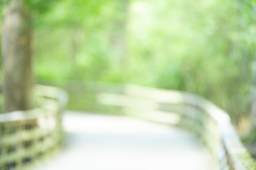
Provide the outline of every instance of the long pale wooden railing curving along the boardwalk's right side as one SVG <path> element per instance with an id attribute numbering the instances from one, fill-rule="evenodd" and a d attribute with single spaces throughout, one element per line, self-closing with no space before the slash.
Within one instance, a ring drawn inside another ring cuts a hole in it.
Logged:
<path id="1" fill-rule="evenodd" d="M 81 102 L 80 105 L 75 103 L 80 109 L 121 113 L 189 129 L 208 146 L 216 169 L 256 169 L 228 114 L 200 96 L 137 85 L 96 82 L 73 83 L 70 87 L 67 90 L 76 102 Z"/>

